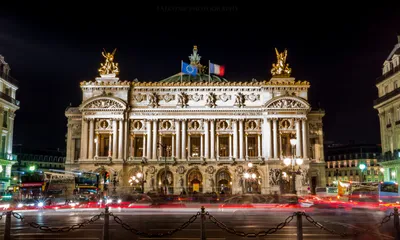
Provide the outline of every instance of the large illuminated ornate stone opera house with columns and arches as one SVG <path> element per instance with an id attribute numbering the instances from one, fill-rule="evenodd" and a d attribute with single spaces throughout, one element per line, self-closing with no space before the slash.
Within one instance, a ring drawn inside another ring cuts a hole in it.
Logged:
<path id="1" fill-rule="evenodd" d="M 65 112 L 66 169 L 101 173 L 103 189 L 106 173 L 116 175 L 118 191 L 143 183 L 170 194 L 270 193 L 288 189 L 283 158 L 295 154 L 303 159 L 297 190 L 326 185 L 325 113 L 311 109 L 309 82 L 290 77 L 286 51 L 270 80 L 247 82 L 206 74 L 197 47 L 189 57 L 196 75 L 121 81 L 114 53 L 103 53 L 101 77 L 81 82 L 82 103 Z"/>

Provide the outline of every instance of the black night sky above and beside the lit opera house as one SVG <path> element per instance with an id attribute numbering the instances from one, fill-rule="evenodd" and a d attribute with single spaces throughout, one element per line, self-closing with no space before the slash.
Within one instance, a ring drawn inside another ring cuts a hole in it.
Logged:
<path id="1" fill-rule="evenodd" d="M 393 4 L 94 3 L 2 6 L 0 54 L 20 82 L 14 144 L 65 148 L 64 111 L 80 104 L 79 82 L 98 76 L 103 48 L 117 48 L 121 79 L 158 81 L 180 71 L 193 45 L 203 65 L 225 65 L 230 81 L 269 80 L 274 48 L 287 48 L 292 76 L 311 83 L 312 106 L 326 111 L 325 140 L 380 142 L 373 100 L 375 80 L 400 34 L 400 9 Z"/>

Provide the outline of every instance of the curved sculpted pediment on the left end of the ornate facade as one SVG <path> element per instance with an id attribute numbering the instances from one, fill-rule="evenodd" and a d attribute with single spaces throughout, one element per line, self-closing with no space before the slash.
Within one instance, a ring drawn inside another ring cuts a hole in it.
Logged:
<path id="1" fill-rule="evenodd" d="M 88 99 L 80 106 L 81 111 L 85 110 L 103 110 L 103 111 L 124 111 L 126 103 L 115 97 L 99 97 Z"/>

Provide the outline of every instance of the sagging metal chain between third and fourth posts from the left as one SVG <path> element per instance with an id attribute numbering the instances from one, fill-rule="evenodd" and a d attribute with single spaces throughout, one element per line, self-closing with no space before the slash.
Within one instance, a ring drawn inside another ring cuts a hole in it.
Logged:
<path id="1" fill-rule="evenodd" d="M 297 215 L 297 213 L 293 213 L 292 215 L 287 217 L 284 222 L 279 223 L 276 227 L 270 228 L 266 231 L 260 231 L 257 233 L 245 233 L 243 231 L 237 231 L 234 228 L 230 228 L 230 227 L 226 226 L 224 223 L 218 221 L 213 215 L 209 214 L 208 212 L 206 212 L 206 215 L 208 216 L 208 219 L 210 219 L 210 221 L 212 223 L 214 223 L 220 229 L 222 229 L 228 233 L 235 234 L 236 236 L 240 236 L 240 237 L 264 237 L 264 236 L 275 233 L 276 231 L 284 228 L 286 225 L 288 225 L 293 220 L 293 218 Z"/>

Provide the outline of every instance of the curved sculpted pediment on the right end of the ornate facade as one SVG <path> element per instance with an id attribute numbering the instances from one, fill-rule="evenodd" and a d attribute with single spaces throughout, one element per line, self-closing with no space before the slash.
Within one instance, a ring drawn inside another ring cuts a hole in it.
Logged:
<path id="1" fill-rule="evenodd" d="M 279 109 L 279 110 L 308 110 L 310 104 L 302 98 L 281 96 L 273 98 L 265 103 L 267 109 Z"/>

